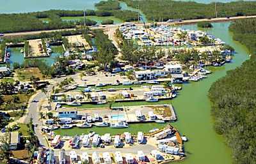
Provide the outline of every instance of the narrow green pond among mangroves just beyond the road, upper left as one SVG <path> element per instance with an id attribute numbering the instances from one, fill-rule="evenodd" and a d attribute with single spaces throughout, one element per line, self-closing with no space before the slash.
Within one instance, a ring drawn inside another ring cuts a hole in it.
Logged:
<path id="1" fill-rule="evenodd" d="M 80 20 L 84 19 L 84 17 L 61 17 L 61 20 Z M 97 17 L 97 16 L 86 16 L 86 19 L 94 20 L 97 22 L 97 24 L 101 24 L 102 20 L 111 19 L 114 20 L 114 24 L 122 24 L 124 21 L 121 19 L 118 19 L 116 17 Z"/>

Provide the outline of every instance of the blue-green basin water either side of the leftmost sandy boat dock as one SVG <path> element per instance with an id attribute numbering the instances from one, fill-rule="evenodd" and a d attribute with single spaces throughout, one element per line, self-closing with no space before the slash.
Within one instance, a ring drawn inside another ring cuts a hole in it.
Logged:
<path id="1" fill-rule="evenodd" d="M 24 59 L 24 54 L 20 53 L 20 50 L 24 47 L 9 47 L 7 50 L 10 52 L 10 63 L 19 63 L 22 64 L 26 59 Z M 63 54 L 62 46 L 51 46 L 52 54 L 51 57 L 36 57 L 36 59 L 42 59 L 51 66 L 52 62 L 54 62 L 55 57 Z"/>

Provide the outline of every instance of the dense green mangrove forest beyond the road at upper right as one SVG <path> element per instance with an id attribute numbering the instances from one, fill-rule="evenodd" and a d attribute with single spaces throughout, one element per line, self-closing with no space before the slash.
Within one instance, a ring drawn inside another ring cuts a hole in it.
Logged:
<path id="1" fill-rule="evenodd" d="M 216 17 L 214 15 L 215 3 L 196 3 L 194 1 L 172 0 L 121 0 L 128 6 L 138 8 L 146 15 L 148 20 L 166 21 L 168 19 L 202 19 Z M 256 2 L 236 1 L 230 3 L 216 3 L 218 17 L 255 15 Z"/>

